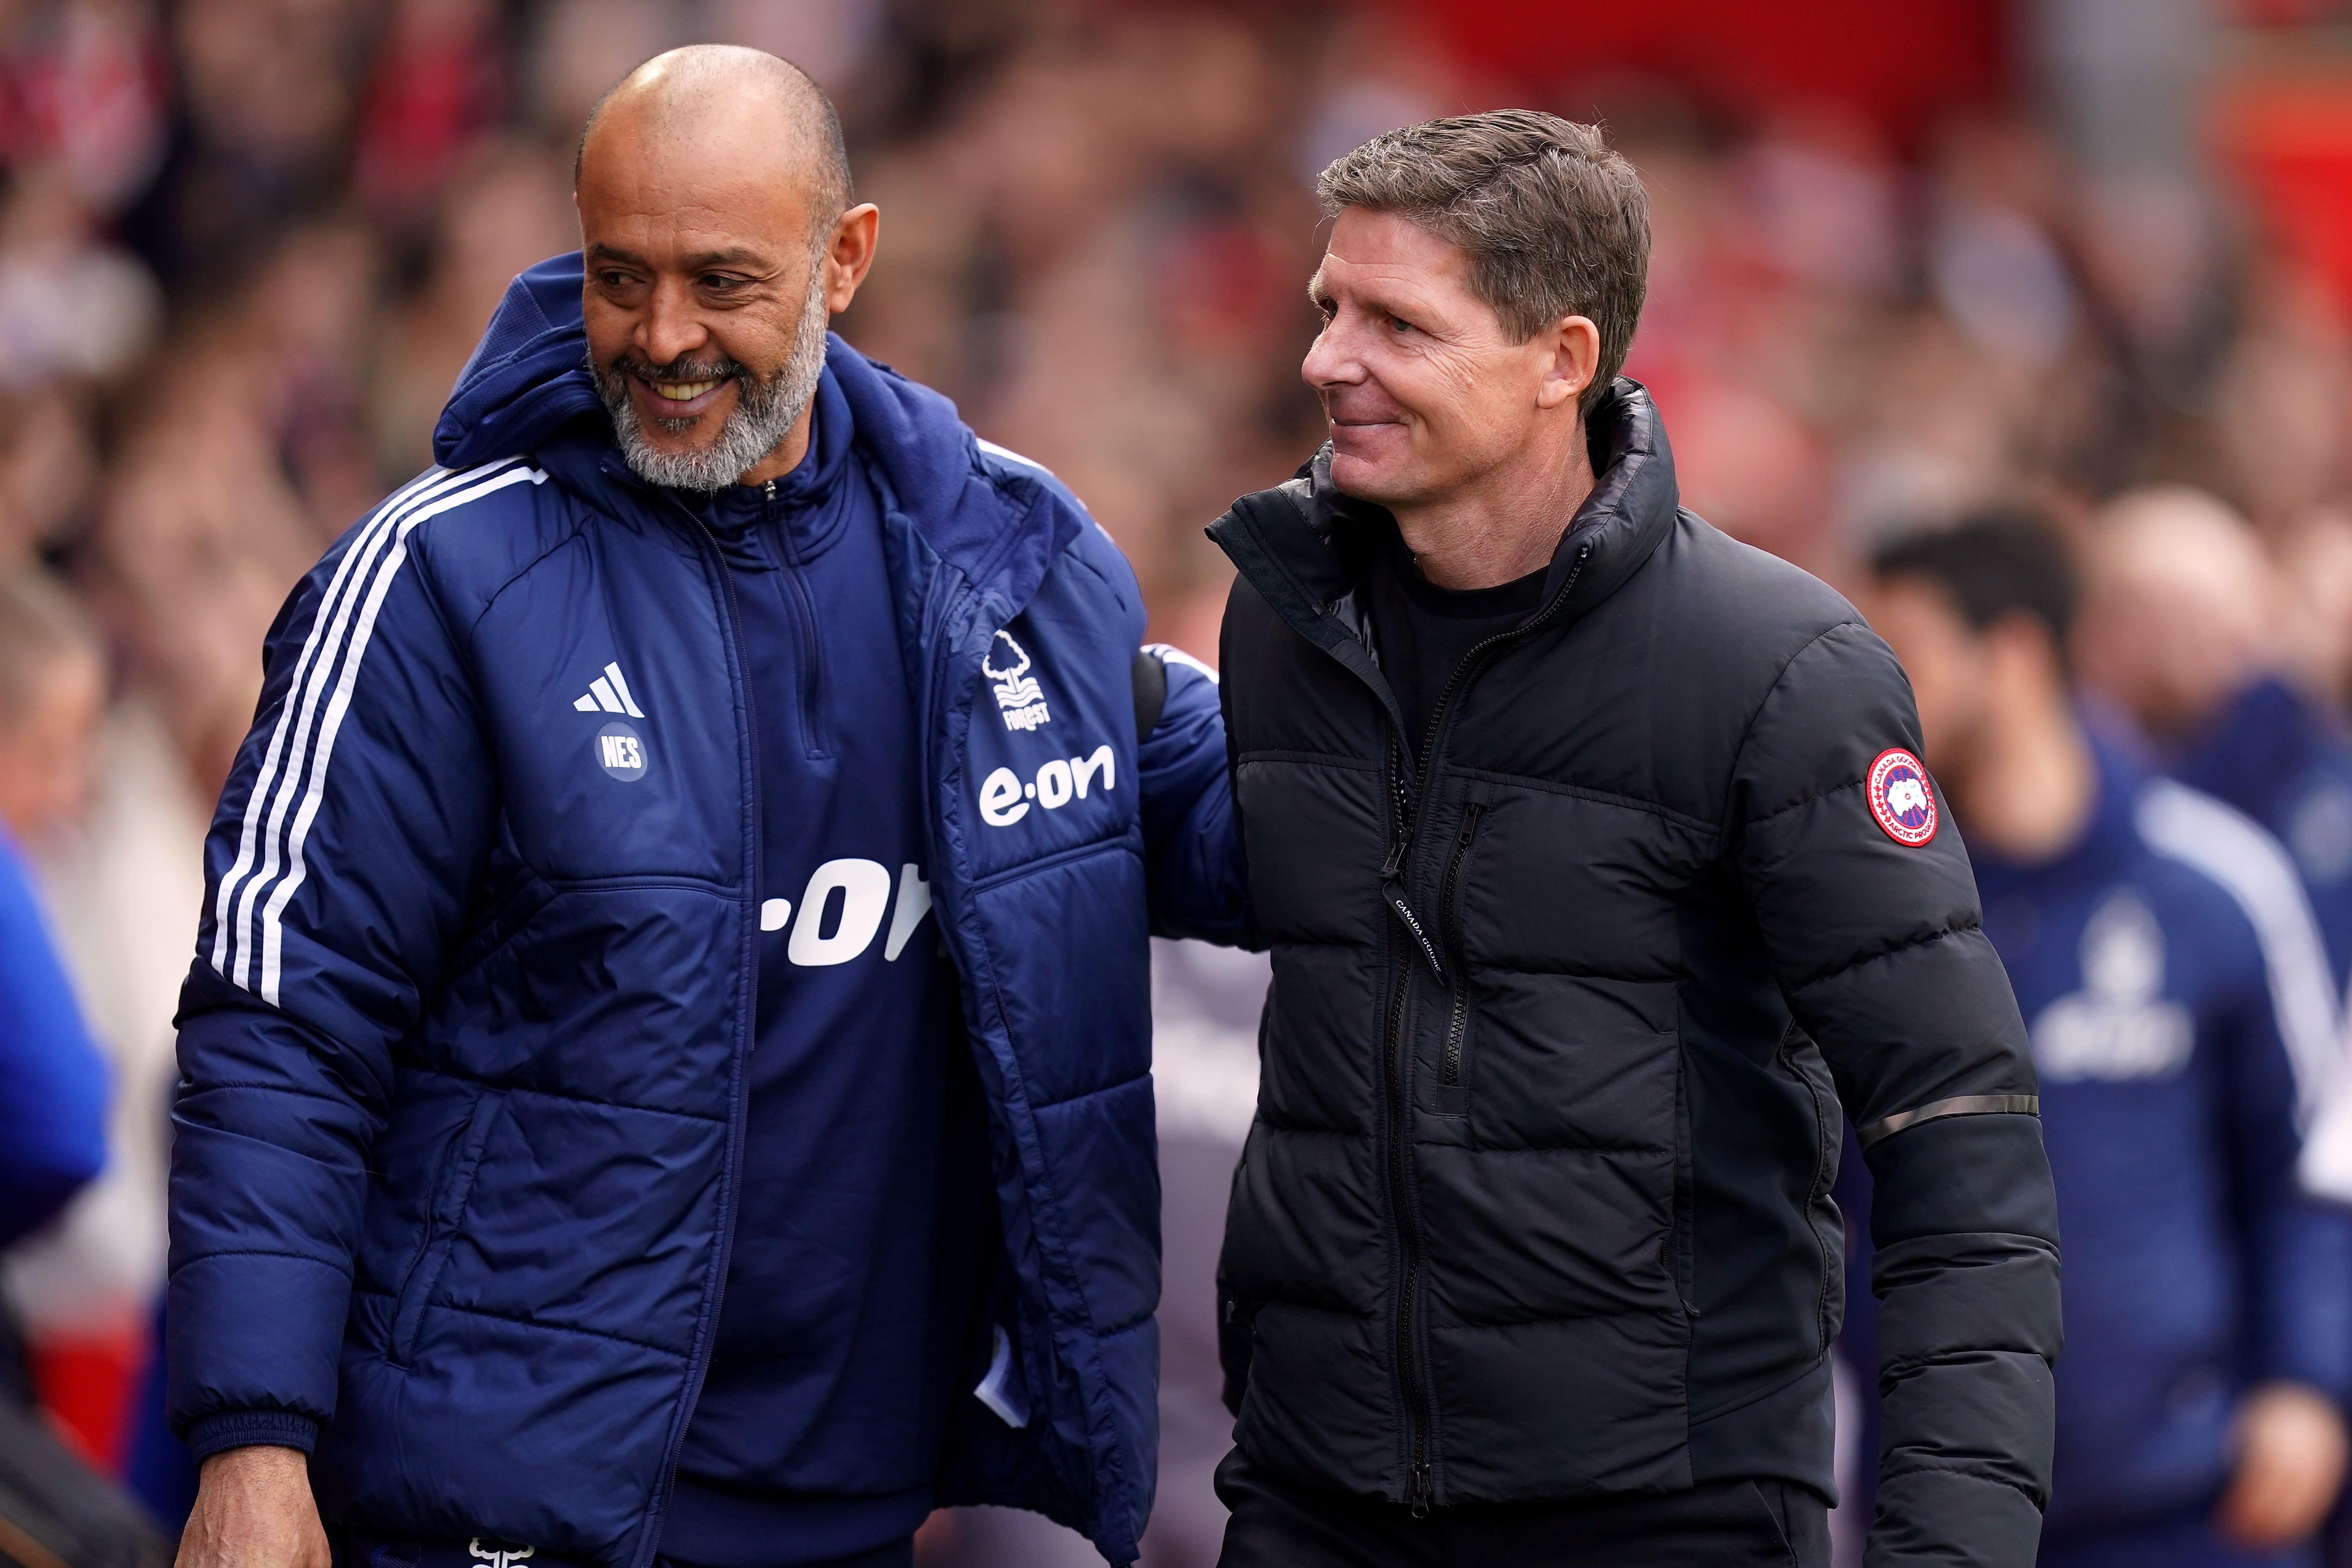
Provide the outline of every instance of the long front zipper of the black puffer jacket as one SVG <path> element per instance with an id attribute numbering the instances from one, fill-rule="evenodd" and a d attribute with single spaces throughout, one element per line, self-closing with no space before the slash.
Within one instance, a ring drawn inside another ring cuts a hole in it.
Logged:
<path id="1" fill-rule="evenodd" d="M 1402 745 L 1392 738 L 1390 743 L 1390 785 L 1399 806 L 1399 837 L 1388 851 L 1388 863 L 1381 867 L 1381 893 L 1388 905 L 1397 912 L 1404 926 L 1418 938 L 1421 954 L 1430 964 L 1430 973 L 1437 976 L 1439 985 L 1446 983 L 1444 969 L 1437 959 L 1435 943 L 1423 933 L 1423 924 L 1414 919 L 1411 903 L 1404 898 L 1404 863 L 1411 858 L 1414 839 L 1421 835 L 1425 818 L 1430 813 L 1430 802 L 1435 799 L 1437 785 L 1437 757 L 1444 743 L 1446 722 L 1454 717 L 1454 698 L 1477 679 L 1479 670 L 1489 656 L 1505 644 L 1524 642 L 1543 630 L 1552 616 L 1569 602 L 1576 592 L 1576 578 L 1583 576 L 1585 562 L 1592 559 L 1592 543 L 1576 548 L 1576 559 L 1569 564 L 1566 581 L 1559 583 L 1559 592 L 1552 595 L 1531 621 L 1517 625 L 1508 632 L 1496 632 L 1486 642 L 1479 642 L 1446 677 L 1444 689 L 1437 693 L 1437 705 L 1430 710 L 1430 729 L 1421 748 L 1421 778 L 1418 788 L 1404 785 L 1404 762 L 1399 757 Z M 1468 844 L 1463 844 L 1468 849 Z M 1461 856 L 1456 853 L 1456 867 Z M 1437 1385 L 1430 1380 L 1428 1359 L 1421 1354 L 1423 1324 L 1421 1324 L 1421 1194 L 1414 1185 L 1414 1133 L 1411 1133 L 1411 1095 L 1406 1093 L 1406 1051 L 1411 1044 L 1404 1037 L 1404 999 L 1411 990 L 1409 966 L 1397 969 L 1390 1006 L 1388 1006 L 1388 1039 L 1381 1051 L 1381 1077 L 1383 1098 L 1388 1103 L 1388 1192 L 1390 1206 L 1397 1213 L 1397 1248 L 1402 1253 L 1404 1295 L 1392 1314 L 1392 1342 L 1397 1356 L 1397 1378 L 1404 1385 L 1404 1448 L 1406 1462 L 1406 1488 L 1404 1502 L 1411 1507 L 1414 1519 L 1428 1519 L 1430 1505 L 1435 1502 L 1435 1479 L 1432 1479 L 1432 1434 L 1437 1432 Z M 1458 1009 L 1461 1004 L 1456 1004 Z"/>

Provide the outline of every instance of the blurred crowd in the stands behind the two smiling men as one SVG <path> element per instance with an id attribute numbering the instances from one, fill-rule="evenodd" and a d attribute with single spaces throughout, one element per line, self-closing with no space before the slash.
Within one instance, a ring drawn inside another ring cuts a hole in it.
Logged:
<path id="1" fill-rule="evenodd" d="M 0 679 L 0 752 L 54 773 L 7 830 L 111 1072 L 106 1173 L 5 1284 L 35 1392 L 106 1469 L 134 1465 L 174 992 L 261 635 L 430 461 L 508 277 L 576 244 L 588 106 L 689 40 L 835 94 L 882 207 L 840 329 L 1068 480 L 1152 635 L 1204 658 L 1230 569 L 1202 527 L 1319 440 L 1315 172 L 1531 96 L 1367 5 L 0 0 L 0 571 L 61 585 L 103 672 L 80 705 Z M 2227 179 L 2098 167 L 2023 92 L 1900 143 L 1576 63 L 1536 96 L 1606 120 L 1649 181 L 1628 371 L 1693 510 L 1851 585 L 1879 541 L 1985 505 L 2082 534 L 2131 487 L 2197 487 L 2260 545 L 2263 658 L 2352 696 L 2347 299 Z M 1207 1460 L 1169 1490 L 1155 1568 L 1214 1556 L 1223 1427 L 1214 1382 L 1185 1382 L 1214 1380 L 1214 1335 L 1183 1319 L 1209 1312 L 1211 1248 L 1181 1237 L 1216 1229 L 1263 985 L 1218 964 L 1162 954 L 1162 1117 L 1197 1166 L 1169 1185 L 1171 1401 L 1207 1401 L 1171 1415 L 1171 1465 Z M 990 1528 L 929 1549 L 978 1561 Z"/>

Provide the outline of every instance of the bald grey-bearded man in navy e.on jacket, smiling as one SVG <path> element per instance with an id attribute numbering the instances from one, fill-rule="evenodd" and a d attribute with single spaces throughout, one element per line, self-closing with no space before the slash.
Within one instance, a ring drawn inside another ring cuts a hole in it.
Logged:
<path id="1" fill-rule="evenodd" d="M 590 118 L 440 465 L 266 644 L 172 1166 L 183 1568 L 903 1566 L 1150 1509 L 1145 936 L 1242 931 L 1207 670 L 1035 463 L 828 336 L 750 49 Z"/>

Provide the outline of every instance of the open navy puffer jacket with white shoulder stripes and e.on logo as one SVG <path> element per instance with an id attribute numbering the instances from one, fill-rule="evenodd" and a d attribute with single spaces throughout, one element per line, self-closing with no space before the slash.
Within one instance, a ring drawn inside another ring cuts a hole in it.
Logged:
<path id="1" fill-rule="evenodd" d="M 757 771 L 727 571 L 637 484 L 579 256 L 515 280 L 442 468 L 294 590 L 207 844 L 172 1161 L 172 1418 L 313 1446 L 329 1519 L 642 1568 L 734 1229 Z M 941 1502 L 1136 1556 L 1160 1295 L 1145 933 L 1232 936 L 1209 679 L 1138 745 L 1127 562 L 833 339 L 882 477 L 929 893 L 993 1114 L 1011 1427 Z M 971 1382 L 995 1333 L 978 1326 Z"/>

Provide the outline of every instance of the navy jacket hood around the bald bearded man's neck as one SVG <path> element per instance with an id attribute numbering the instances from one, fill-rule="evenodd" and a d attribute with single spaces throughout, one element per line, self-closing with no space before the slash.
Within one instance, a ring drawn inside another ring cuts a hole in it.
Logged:
<path id="1" fill-rule="evenodd" d="M 593 461 L 548 463 L 560 482 L 595 484 L 602 475 L 649 489 L 619 463 L 612 421 L 588 371 L 581 277 L 581 252 L 569 252 L 508 284 L 433 428 L 437 463 L 473 468 L 586 437 Z M 1084 512 L 1047 505 L 1049 484 L 1040 477 L 983 468 L 953 402 L 875 364 L 840 334 L 826 334 L 826 369 L 849 402 L 856 444 L 882 480 L 887 505 L 906 512 L 964 576 L 1011 602 L 1025 599 L 1084 527 Z"/>

